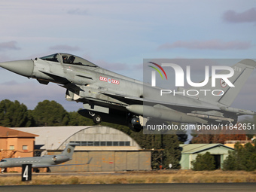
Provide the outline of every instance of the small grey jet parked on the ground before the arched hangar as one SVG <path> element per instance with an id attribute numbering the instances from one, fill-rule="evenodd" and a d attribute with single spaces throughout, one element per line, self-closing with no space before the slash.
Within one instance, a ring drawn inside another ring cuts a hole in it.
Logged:
<path id="1" fill-rule="evenodd" d="M 38 168 L 47 167 L 47 172 L 50 172 L 51 166 L 74 166 L 74 165 L 82 165 L 82 164 L 64 164 L 59 165 L 60 163 L 64 163 L 66 161 L 72 160 L 72 155 L 75 149 L 75 143 L 69 143 L 64 151 L 61 154 L 57 155 L 44 155 L 42 157 L 20 157 L 20 158 L 5 158 L 0 161 L 0 168 L 2 168 L 2 172 L 5 171 L 5 168 L 8 167 L 21 167 L 23 164 L 32 164 L 32 168 L 35 168 L 35 172 L 39 172 Z M 92 160 L 92 159 L 90 159 Z M 90 160 L 88 163 L 89 164 Z"/>

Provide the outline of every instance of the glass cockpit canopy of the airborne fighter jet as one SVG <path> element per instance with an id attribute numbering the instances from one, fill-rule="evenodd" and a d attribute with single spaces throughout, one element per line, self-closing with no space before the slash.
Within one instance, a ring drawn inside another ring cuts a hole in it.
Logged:
<path id="1" fill-rule="evenodd" d="M 40 57 L 40 59 L 51 62 L 61 62 L 63 64 L 97 67 L 95 64 L 93 64 L 93 62 L 89 62 L 86 59 L 69 53 L 55 53 L 53 55 Z"/>

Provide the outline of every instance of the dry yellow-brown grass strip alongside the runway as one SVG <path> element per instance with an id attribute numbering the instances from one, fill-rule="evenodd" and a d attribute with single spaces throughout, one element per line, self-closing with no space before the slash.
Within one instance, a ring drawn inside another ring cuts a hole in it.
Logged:
<path id="1" fill-rule="evenodd" d="M 8 175 L 8 174 L 6 174 Z M 37 184 L 142 184 L 142 183 L 225 183 L 256 182 L 256 171 L 161 170 L 150 172 L 117 172 L 88 175 L 32 175 L 32 181 L 21 181 L 21 176 L 0 177 L 0 185 Z"/>

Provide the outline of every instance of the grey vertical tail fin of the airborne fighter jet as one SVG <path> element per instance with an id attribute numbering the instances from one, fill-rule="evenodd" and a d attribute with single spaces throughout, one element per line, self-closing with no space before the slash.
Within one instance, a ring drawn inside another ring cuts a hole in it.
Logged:
<path id="1" fill-rule="evenodd" d="M 221 103 L 223 105 L 230 106 L 239 91 L 242 89 L 242 86 L 245 84 L 245 81 L 251 75 L 251 72 L 255 69 L 256 62 L 251 59 L 243 59 L 242 61 L 236 63 L 232 66 L 234 70 L 234 75 L 229 78 L 229 81 L 235 87 L 229 87 L 225 81 L 222 79 L 216 79 L 215 86 L 212 87 L 212 81 L 209 81 L 204 87 L 200 87 L 200 90 L 219 90 L 215 91 L 215 95 L 220 94 L 220 96 L 214 96 L 212 94 L 206 94 L 205 92 L 199 91 L 198 98 L 200 100 L 211 102 L 211 103 Z M 218 74 L 227 74 L 227 71 L 221 71 Z M 222 91 L 221 91 L 222 90 Z M 209 92 L 207 92 L 209 93 Z M 205 96 L 206 94 L 206 96 Z"/>

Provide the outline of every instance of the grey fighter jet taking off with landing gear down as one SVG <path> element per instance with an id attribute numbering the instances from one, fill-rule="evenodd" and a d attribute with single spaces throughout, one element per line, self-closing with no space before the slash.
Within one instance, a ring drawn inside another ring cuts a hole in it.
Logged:
<path id="1" fill-rule="evenodd" d="M 227 85 L 227 79 L 215 79 L 214 88 L 222 91 L 221 96 L 215 96 L 217 93 L 206 96 L 206 91 L 198 91 L 197 96 L 163 94 L 160 99 L 156 99 L 164 92 L 160 87 L 102 69 L 69 53 L 2 62 L 0 66 L 18 75 L 35 78 L 40 84 L 60 84 L 66 89 L 66 100 L 83 103 L 84 109 L 78 111 L 79 114 L 92 118 L 94 123 L 105 121 L 128 125 L 133 131 L 142 130 L 142 125 L 154 119 L 234 124 L 239 115 L 256 114 L 254 111 L 230 107 L 256 67 L 256 62 L 251 59 L 243 59 L 232 67 L 234 73 L 228 81 L 235 88 Z M 210 92 L 212 89 L 210 84 L 203 87 L 203 90 Z"/>

